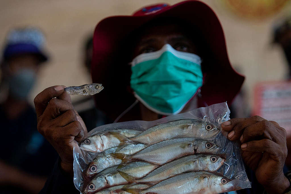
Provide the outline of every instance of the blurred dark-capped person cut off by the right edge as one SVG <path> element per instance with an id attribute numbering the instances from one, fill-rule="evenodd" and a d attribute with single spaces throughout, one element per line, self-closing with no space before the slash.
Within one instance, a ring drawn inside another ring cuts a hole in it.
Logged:
<path id="1" fill-rule="evenodd" d="M 288 79 L 291 79 L 291 15 L 274 28 L 274 43 L 280 45 L 288 62 Z"/>

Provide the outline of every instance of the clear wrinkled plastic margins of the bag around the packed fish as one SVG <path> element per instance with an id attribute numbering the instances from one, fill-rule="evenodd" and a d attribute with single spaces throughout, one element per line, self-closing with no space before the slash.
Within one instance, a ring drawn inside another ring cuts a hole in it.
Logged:
<path id="1" fill-rule="evenodd" d="M 154 121 L 129 121 L 103 125 L 91 130 L 88 133 L 87 137 L 99 134 L 102 131 L 120 128 L 134 129 L 142 132 L 149 129 L 150 127 L 180 119 L 195 119 L 209 122 L 218 129 L 220 129 L 220 131 L 216 136 L 211 137 L 208 140 L 211 140 L 220 147 L 219 153 L 217 155 L 223 156 L 226 159 L 223 165 L 217 170 L 217 173 L 222 174 L 228 179 L 231 179 L 231 183 L 234 185 L 233 190 L 249 188 L 251 187 L 251 182 L 249 182 L 245 172 L 244 164 L 240 154 L 240 148 L 237 143 L 228 140 L 226 138 L 226 132 L 223 132 L 221 130 L 221 123 L 229 120 L 229 115 L 229 108 L 227 106 L 227 103 L 224 102 L 220 104 L 213 104 L 208 107 L 197 108 L 187 113 L 171 115 Z M 79 145 L 74 146 L 73 152 L 74 184 L 76 188 L 82 193 L 82 191 L 84 191 L 84 188 L 86 187 L 86 185 L 84 185 L 84 182 L 87 183 L 88 180 L 91 179 L 87 177 L 85 173 L 88 164 L 92 162 L 94 158 L 101 152 L 85 151 L 83 149 L 80 149 Z"/>

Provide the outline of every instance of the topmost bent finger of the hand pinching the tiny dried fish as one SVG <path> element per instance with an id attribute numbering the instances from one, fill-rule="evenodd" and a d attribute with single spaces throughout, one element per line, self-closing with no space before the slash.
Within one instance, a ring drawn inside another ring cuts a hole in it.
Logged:
<path id="1" fill-rule="evenodd" d="M 64 92 L 63 86 L 51 86 L 49 88 L 44 89 L 34 98 L 34 106 L 36 108 L 36 115 L 39 117 L 42 115 L 43 111 L 47 107 L 49 101 L 54 98 L 58 97 Z"/>

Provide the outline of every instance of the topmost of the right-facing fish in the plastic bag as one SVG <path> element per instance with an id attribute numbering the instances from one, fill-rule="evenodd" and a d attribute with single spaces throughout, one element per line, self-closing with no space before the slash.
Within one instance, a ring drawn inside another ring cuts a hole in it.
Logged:
<path id="1" fill-rule="evenodd" d="M 181 119 L 159 124 L 130 138 L 140 143 L 154 144 L 179 137 L 210 139 L 219 132 L 213 124 L 195 119 Z"/>

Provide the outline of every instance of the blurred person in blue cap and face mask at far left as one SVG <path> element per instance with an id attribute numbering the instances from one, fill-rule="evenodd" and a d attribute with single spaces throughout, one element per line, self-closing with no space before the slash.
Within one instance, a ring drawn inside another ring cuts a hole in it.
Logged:
<path id="1" fill-rule="evenodd" d="M 38 193 L 56 160 L 53 147 L 37 131 L 28 95 L 36 83 L 45 39 L 36 28 L 7 35 L 1 60 L 0 193 Z"/>

